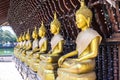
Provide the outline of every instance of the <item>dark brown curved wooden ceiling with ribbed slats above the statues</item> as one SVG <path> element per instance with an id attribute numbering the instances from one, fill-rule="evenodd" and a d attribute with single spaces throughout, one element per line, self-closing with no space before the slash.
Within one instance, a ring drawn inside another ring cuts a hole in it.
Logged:
<path id="1" fill-rule="evenodd" d="M 95 30 L 105 38 L 120 31 L 119 0 L 116 0 L 116 8 L 106 0 L 85 1 L 93 12 L 92 27 Z M 50 39 L 52 36 L 49 30 L 50 22 L 56 12 L 62 24 L 61 34 L 71 40 L 69 38 L 75 39 L 79 32 L 75 25 L 75 12 L 79 7 L 78 0 L 0 0 L 0 25 L 9 22 L 19 36 L 27 29 L 32 32 L 35 26 L 39 28 L 43 21 Z"/>

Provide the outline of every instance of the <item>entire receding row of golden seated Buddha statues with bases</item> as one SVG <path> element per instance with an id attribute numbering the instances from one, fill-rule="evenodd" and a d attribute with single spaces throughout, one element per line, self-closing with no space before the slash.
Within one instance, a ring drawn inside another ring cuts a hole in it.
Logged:
<path id="1" fill-rule="evenodd" d="M 39 32 L 33 30 L 33 42 L 29 30 L 20 35 L 18 44 L 14 48 L 15 56 L 36 72 L 42 80 L 96 80 L 95 58 L 102 37 L 90 28 L 92 12 L 80 1 L 81 7 L 76 11 L 76 24 L 81 32 L 76 38 L 76 49 L 63 54 L 64 38 L 60 34 L 61 24 L 56 13 L 50 24 L 53 37 L 50 41 L 51 49 L 48 50 L 46 29 L 42 22 Z M 38 40 L 38 36 L 41 38 Z M 78 55 L 77 58 L 69 58 Z"/>

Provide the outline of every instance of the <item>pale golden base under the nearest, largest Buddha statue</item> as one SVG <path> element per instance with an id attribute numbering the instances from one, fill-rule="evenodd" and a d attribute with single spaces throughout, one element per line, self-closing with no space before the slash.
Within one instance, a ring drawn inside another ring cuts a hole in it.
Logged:
<path id="1" fill-rule="evenodd" d="M 96 74 L 94 71 L 84 74 L 73 74 L 59 70 L 56 80 L 96 80 Z"/>

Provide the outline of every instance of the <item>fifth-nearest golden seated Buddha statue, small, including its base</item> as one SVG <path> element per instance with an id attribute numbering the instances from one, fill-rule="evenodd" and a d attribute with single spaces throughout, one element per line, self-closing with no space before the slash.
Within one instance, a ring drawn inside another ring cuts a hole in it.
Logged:
<path id="1" fill-rule="evenodd" d="M 31 40 L 30 40 L 30 33 L 29 33 L 29 29 L 25 35 L 25 38 L 26 38 L 26 44 L 25 44 L 25 48 L 24 50 L 22 51 L 22 54 L 21 54 L 21 61 L 24 62 L 25 61 L 25 57 L 26 57 L 26 52 L 27 51 L 30 51 L 31 48 L 32 48 L 32 43 L 31 43 Z"/>

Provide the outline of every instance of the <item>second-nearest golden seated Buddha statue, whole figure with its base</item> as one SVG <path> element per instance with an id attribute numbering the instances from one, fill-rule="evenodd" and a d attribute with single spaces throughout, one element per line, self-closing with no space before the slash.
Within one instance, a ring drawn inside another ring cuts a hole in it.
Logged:
<path id="1" fill-rule="evenodd" d="M 40 55 L 40 67 L 38 68 L 38 75 L 43 80 L 54 80 L 55 71 L 58 67 L 57 61 L 63 51 L 64 39 L 60 35 L 60 22 L 57 19 L 56 13 L 54 14 L 54 20 L 50 24 L 50 31 L 54 36 L 51 39 L 51 50 L 48 54 Z"/>

